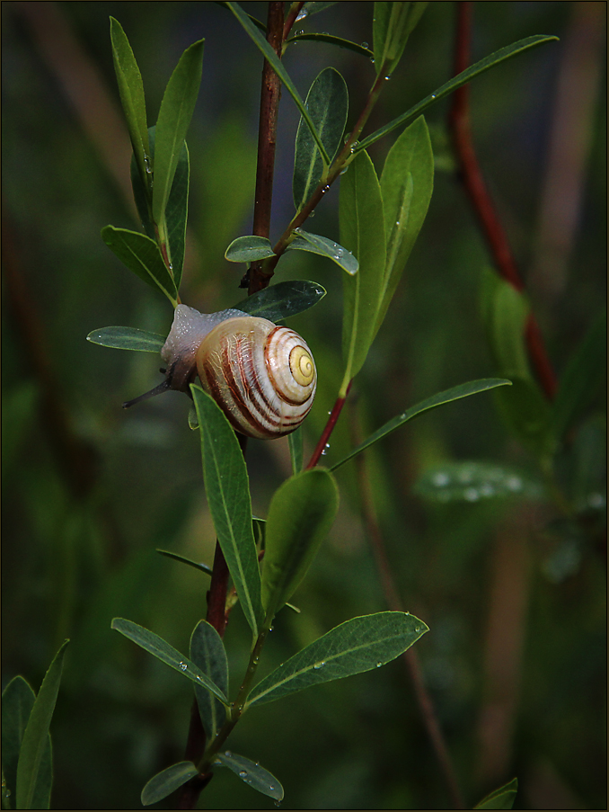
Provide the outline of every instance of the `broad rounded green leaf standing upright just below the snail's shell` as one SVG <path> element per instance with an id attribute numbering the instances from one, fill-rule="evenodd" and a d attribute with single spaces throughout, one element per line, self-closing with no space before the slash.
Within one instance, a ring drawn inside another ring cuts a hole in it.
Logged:
<path id="1" fill-rule="evenodd" d="M 339 509 L 339 490 L 324 468 L 290 477 L 269 506 L 262 567 L 262 604 L 267 620 L 303 580 Z"/>

